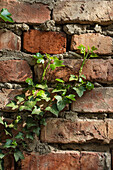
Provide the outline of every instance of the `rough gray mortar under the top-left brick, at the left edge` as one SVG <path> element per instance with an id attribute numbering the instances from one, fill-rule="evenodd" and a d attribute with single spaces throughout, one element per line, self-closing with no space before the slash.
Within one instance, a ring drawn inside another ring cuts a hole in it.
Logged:
<path id="1" fill-rule="evenodd" d="M 0 23 L 0 29 L 6 28 L 11 30 L 17 35 L 22 35 L 23 31 L 28 31 L 30 28 L 27 24 L 8 24 L 8 23 Z"/>

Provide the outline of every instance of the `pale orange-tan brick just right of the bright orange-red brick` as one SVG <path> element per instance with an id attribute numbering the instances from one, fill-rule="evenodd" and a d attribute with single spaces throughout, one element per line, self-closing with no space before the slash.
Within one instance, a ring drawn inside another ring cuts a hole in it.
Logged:
<path id="1" fill-rule="evenodd" d="M 90 48 L 95 46 L 97 48 L 95 52 L 99 54 L 112 54 L 112 38 L 101 35 L 100 33 L 73 35 L 71 40 L 71 50 L 77 50 L 80 44 L 85 47 L 89 46 Z"/>

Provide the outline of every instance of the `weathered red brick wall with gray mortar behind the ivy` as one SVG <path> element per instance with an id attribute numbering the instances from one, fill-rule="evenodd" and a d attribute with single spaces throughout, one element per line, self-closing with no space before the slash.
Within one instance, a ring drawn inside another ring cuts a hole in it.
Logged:
<path id="1" fill-rule="evenodd" d="M 83 69 L 95 89 L 58 118 L 47 118 L 25 159 L 14 164 L 7 157 L 5 169 L 113 169 L 113 1 L 2 0 L 2 8 L 15 23 L 0 22 L 1 115 L 14 114 L 6 104 L 21 93 L 27 77 L 40 75 L 32 59 L 36 52 L 64 59 L 66 67 L 49 73 L 49 82 L 78 72 L 81 60 L 73 53 L 78 45 L 95 46 L 99 55 Z"/>

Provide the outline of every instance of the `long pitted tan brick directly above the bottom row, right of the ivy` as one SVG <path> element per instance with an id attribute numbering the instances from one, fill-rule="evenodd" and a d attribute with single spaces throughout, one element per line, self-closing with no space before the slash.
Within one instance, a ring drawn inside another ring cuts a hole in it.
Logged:
<path id="1" fill-rule="evenodd" d="M 48 119 L 41 129 L 41 141 L 48 143 L 108 143 L 106 122 L 103 120 Z"/>

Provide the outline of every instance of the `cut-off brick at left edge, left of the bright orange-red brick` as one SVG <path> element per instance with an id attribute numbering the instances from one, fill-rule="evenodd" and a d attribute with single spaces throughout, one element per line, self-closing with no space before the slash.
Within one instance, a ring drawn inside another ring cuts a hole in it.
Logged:
<path id="1" fill-rule="evenodd" d="M 0 50 L 20 50 L 21 39 L 9 30 L 0 30 Z"/>

